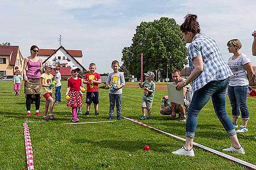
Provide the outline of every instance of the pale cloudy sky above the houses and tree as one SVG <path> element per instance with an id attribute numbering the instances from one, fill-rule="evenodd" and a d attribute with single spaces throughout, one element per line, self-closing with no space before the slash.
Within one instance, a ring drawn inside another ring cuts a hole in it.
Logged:
<path id="1" fill-rule="evenodd" d="M 28 0 L 0 1 L 0 43 L 19 45 L 23 57 L 30 46 L 59 48 L 59 35 L 65 49 L 82 50 L 82 65 L 87 69 L 95 62 L 98 73 L 112 71 L 110 63 L 121 61 L 122 49 L 131 45 L 135 28 L 142 21 L 162 16 L 183 23 L 186 14 L 196 14 L 201 32 L 212 37 L 221 49 L 225 61 L 226 42 L 240 39 L 241 51 L 256 66 L 251 55 L 251 32 L 256 29 L 255 0 Z"/>

